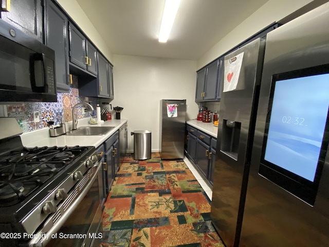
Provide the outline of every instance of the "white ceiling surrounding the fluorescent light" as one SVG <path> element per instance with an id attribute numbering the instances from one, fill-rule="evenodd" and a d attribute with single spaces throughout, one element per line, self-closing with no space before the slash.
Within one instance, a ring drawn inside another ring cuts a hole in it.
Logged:
<path id="1" fill-rule="evenodd" d="M 167 43 L 165 0 L 76 0 L 112 54 L 198 60 L 268 0 L 181 0 Z"/>

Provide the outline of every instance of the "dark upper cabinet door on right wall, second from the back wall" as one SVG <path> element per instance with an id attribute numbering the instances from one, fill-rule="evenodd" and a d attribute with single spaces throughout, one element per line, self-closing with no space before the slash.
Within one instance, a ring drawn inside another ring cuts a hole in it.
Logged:
<path id="1" fill-rule="evenodd" d="M 216 99 L 218 65 L 219 62 L 216 60 L 207 66 L 204 100 Z"/>

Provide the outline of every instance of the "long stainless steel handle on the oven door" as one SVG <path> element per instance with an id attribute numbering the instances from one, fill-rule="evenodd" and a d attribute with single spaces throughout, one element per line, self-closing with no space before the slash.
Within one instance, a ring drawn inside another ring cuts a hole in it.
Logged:
<path id="1" fill-rule="evenodd" d="M 65 223 L 65 221 L 71 216 L 73 211 L 78 207 L 80 202 L 82 202 L 83 198 L 87 195 L 89 189 L 93 186 L 97 176 L 98 172 L 102 166 L 100 163 L 96 163 L 94 165 L 94 168 L 96 168 L 95 173 L 93 174 L 92 179 L 89 180 L 86 187 L 82 190 L 80 195 L 77 197 L 77 199 L 72 203 L 67 211 L 62 215 L 62 217 L 50 228 L 48 232 L 43 232 L 42 229 L 35 234 L 35 236 L 44 236 L 43 238 L 34 237 L 30 242 L 30 247 L 44 247 L 47 245 L 47 243 L 51 240 L 51 235 L 57 233 L 62 225 Z M 44 235 L 43 235 L 44 234 Z"/>

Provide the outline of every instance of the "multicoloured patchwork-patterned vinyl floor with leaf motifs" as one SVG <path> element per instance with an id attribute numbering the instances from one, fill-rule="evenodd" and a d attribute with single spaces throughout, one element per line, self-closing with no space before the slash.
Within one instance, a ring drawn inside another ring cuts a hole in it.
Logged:
<path id="1" fill-rule="evenodd" d="M 127 155 L 103 211 L 102 246 L 224 246 L 210 200 L 183 160 Z"/>

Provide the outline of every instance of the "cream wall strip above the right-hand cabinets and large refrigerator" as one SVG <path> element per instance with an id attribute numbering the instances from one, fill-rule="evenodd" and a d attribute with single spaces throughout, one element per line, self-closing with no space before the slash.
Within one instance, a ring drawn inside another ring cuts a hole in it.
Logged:
<path id="1" fill-rule="evenodd" d="M 254 33 L 262 30 L 273 22 L 280 21 L 310 2 L 312 2 L 312 0 L 269 0 L 198 59 L 197 69 L 202 68 L 212 60 L 220 57 L 234 46 L 248 39 Z"/>

